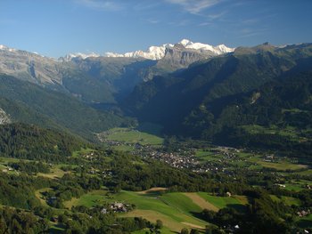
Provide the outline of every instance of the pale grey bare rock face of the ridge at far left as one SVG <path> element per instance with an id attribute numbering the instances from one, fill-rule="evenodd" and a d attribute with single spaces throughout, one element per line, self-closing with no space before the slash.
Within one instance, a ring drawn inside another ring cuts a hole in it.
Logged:
<path id="1" fill-rule="evenodd" d="M 38 85 L 62 84 L 60 63 L 37 53 L 0 45 L 0 73 Z"/>

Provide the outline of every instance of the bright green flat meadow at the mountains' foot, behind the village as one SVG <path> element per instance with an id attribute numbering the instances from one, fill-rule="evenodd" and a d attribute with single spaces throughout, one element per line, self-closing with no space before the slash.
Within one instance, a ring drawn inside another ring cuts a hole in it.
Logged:
<path id="1" fill-rule="evenodd" d="M 139 132 L 132 128 L 112 128 L 106 132 L 106 138 L 110 141 L 121 141 L 126 143 L 140 143 L 142 145 L 161 145 L 163 139 L 159 136 Z"/>

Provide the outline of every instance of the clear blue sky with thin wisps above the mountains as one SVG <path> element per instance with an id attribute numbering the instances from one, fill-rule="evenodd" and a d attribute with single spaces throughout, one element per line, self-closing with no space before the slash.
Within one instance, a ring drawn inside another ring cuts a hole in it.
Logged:
<path id="1" fill-rule="evenodd" d="M 58 58 L 182 39 L 312 43 L 312 0 L 0 0 L 0 44 Z"/>

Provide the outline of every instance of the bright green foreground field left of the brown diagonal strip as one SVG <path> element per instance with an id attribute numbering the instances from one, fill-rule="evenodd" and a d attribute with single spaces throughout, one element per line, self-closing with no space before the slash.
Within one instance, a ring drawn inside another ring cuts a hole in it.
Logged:
<path id="1" fill-rule="evenodd" d="M 193 203 L 183 193 L 138 193 L 132 191 L 121 191 L 118 194 L 106 196 L 105 191 L 93 191 L 76 199 L 65 202 L 68 208 L 71 206 L 95 206 L 104 202 L 120 201 L 126 204 L 134 204 L 135 210 L 127 214 L 127 217 L 144 217 L 151 222 L 161 220 L 165 230 L 180 231 L 183 228 L 204 229 L 208 222 L 201 221 L 193 216 L 200 213 L 202 208 Z M 169 233 L 169 232 L 168 232 Z"/>

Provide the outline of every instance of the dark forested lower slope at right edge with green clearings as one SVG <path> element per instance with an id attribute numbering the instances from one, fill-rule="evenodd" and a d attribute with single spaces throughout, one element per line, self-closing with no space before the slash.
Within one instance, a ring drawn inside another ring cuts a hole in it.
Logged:
<path id="1" fill-rule="evenodd" d="M 310 156 L 312 68 L 237 95 L 219 109 L 213 124 L 202 132 L 216 143 Z"/>

